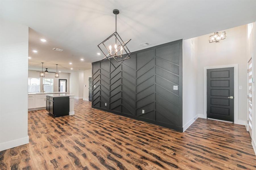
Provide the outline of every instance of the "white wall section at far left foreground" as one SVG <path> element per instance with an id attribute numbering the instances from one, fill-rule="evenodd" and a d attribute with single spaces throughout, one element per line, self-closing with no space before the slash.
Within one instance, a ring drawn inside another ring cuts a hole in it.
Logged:
<path id="1" fill-rule="evenodd" d="M 1 19 L 0 150 L 28 143 L 28 27 Z"/>

